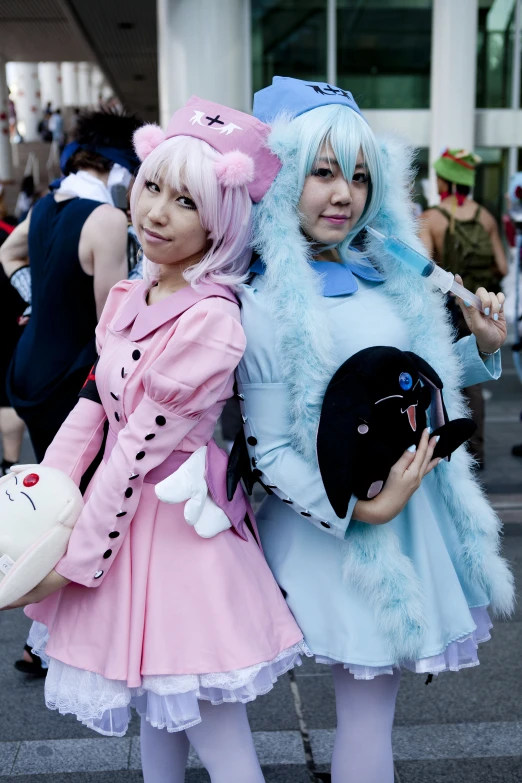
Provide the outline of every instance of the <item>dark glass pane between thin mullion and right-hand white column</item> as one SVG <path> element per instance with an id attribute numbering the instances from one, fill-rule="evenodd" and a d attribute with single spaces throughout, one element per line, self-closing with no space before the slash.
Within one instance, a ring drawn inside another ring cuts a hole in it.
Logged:
<path id="1" fill-rule="evenodd" d="M 337 83 L 364 109 L 430 105 L 432 0 L 337 0 Z"/>

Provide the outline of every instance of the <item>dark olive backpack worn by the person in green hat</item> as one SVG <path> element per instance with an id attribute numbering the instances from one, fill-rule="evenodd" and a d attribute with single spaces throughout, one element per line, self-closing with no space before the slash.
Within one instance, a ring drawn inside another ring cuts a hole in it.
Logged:
<path id="1" fill-rule="evenodd" d="M 491 239 L 479 220 L 482 207 L 470 220 L 452 220 L 443 207 L 433 207 L 448 218 L 444 235 L 441 266 L 462 277 L 465 288 L 476 291 L 499 291 L 501 275 L 495 263 Z M 453 229 L 453 230 L 452 230 Z"/>

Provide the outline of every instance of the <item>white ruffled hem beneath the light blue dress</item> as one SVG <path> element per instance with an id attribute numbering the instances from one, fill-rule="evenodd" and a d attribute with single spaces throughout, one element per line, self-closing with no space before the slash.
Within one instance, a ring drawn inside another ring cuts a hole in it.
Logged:
<path id="1" fill-rule="evenodd" d="M 470 609 L 470 612 L 473 622 L 477 626 L 472 633 L 450 642 L 446 649 L 438 655 L 419 658 L 416 661 L 405 661 L 402 664 L 402 668 L 416 674 L 437 675 L 442 672 L 458 672 L 460 669 L 479 666 L 478 646 L 482 642 L 487 642 L 491 639 L 489 632 L 493 627 L 493 623 L 485 606 Z M 342 664 L 345 669 L 349 670 L 350 674 L 353 674 L 356 680 L 373 680 L 374 677 L 378 677 L 381 674 L 393 674 L 393 670 L 398 668 L 394 665 L 364 666 L 356 663 L 345 663 L 324 655 L 316 655 L 315 660 L 317 663 L 324 663 L 328 666 Z"/>

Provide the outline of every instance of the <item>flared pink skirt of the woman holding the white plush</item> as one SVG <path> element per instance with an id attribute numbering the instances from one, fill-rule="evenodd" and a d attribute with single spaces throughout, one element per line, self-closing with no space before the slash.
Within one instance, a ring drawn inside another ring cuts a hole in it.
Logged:
<path id="1" fill-rule="evenodd" d="M 265 692 L 268 682 L 271 687 L 306 650 L 254 536 L 248 533 L 245 541 L 230 529 L 201 538 L 185 522 L 183 504 L 160 503 L 152 484 L 143 486 L 129 532 L 104 582 L 97 588 L 71 583 L 27 607 L 26 614 L 48 631 L 44 647 L 52 664 L 49 686 L 58 673 L 63 678 L 66 670 L 58 663 L 63 664 L 69 675 L 72 670 L 90 675 L 91 684 L 97 677 L 117 683 L 116 702 L 124 709 L 151 690 L 151 678 L 155 684 L 157 678 L 188 678 L 184 692 L 187 683 L 197 683 L 189 689 L 197 699 L 198 693 L 201 698 L 212 696 L 214 681 L 218 690 L 238 690 L 233 687 L 236 675 L 247 672 L 238 688 L 239 700 L 248 700 Z M 232 674 L 232 679 L 225 678 L 225 687 L 219 684 L 218 675 L 223 674 Z M 76 677 L 78 692 L 86 683 L 80 679 Z M 243 687 L 250 685 L 245 694 Z M 216 703 L 238 700 L 237 695 L 218 694 Z M 75 701 L 70 693 L 67 699 Z M 67 711 L 78 714 L 76 706 Z M 103 706 L 95 709 L 100 719 Z M 193 710 L 192 720 L 197 722 Z"/>

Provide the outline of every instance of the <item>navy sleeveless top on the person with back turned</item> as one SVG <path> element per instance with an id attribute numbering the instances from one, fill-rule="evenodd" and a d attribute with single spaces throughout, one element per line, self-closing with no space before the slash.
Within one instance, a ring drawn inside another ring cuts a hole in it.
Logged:
<path id="1" fill-rule="evenodd" d="M 52 194 L 34 207 L 29 230 L 32 312 L 8 373 L 11 402 L 26 421 L 37 460 L 76 404 L 96 358 L 93 276 L 78 247 L 99 201 Z"/>

